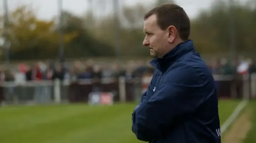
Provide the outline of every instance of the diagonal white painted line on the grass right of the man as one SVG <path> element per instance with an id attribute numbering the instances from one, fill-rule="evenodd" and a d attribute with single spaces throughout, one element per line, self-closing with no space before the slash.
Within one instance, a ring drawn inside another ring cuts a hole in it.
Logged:
<path id="1" fill-rule="evenodd" d="M 248 100 L 243 100 L 236 106 L 234 112 L 228 117 L 228 119 L 221 125 L 220 131 L 224 133 L 226 129 L 233 123 L 234 119 L 240 114 L 244 107 L 248 104 Z"/>

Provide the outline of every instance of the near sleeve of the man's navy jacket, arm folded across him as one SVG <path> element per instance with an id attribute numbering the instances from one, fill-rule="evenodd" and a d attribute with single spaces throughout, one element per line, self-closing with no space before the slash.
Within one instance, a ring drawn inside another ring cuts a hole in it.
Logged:
<path id="1" fill-rule="evenodd" d="M 187 65 L 179 65 L 168 73 L 149 100 L 143 100 L 134 112 L 133 131 L 141 141 L 161 136 L 174 121 L 188 118 L 204 100 L 198 92 L 207 81 Z M 192 94 L 198 92 L 196 94 Z M 190 94 L 191 93 L 191 94 Z"/>

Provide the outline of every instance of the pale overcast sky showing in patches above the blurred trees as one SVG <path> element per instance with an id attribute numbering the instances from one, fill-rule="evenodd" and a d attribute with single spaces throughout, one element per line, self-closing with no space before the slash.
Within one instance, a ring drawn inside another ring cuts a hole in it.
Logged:
<path id="1" fill-rule="evenodd" d="M 63 8 L 76 15 L 82 15 L 88 8 L 89 0 L 63 0 Z M 93 0 L 101 2 L 110 2 L 111 0 Z M 190 18 L 194 18 L 200 9 L 209 8 L 212 2 L 218 0 L 175 0 L 177 4 L 182 6 Z M 228 0 L 227 0 L 228 1 Z M 245 1 L 245 0 L 240 0 Z M 154 0 L 121 0 L 126 5 L 134 5 L 137 2 L 143 4 L 150 4 Z M 0 0 L 0 12 L 2 13 L 3 0 Z M 50 20 L 53 16 L 58 14 L 58 0 L 8 0 L 9 10 L 14 10 L 17 6 L 22 4 L 32 4 L 33 8 L 38 10 L 38 18 Z M 112 8 L 109 8 L 112 9 Z"/>

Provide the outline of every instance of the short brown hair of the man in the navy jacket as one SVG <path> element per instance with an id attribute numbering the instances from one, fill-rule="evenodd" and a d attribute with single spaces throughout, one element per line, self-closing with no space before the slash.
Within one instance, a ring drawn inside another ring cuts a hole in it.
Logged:
<path id="1" fill-rule="evenodd" d="M 163 4 L 145 14 L 144 20 L 156 14 L 157 24 L 165 30 L 173 25 L 178 30 L 180 38 L 184 41 L 190 36 L 190 20 L 182 7 L 176 4 Z"/>

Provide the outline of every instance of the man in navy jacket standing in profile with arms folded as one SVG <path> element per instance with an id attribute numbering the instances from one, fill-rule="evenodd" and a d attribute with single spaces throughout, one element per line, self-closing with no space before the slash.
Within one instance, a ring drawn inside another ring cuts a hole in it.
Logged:
<path id="1" fill-rule="evenodd" d="M 183 8 L 165 4 L 145 14 L 143 45 L 155 72 L 132 114 L 132 131 L 149 143 L 220 143 L 214 78 L 190 36 Z"/>

